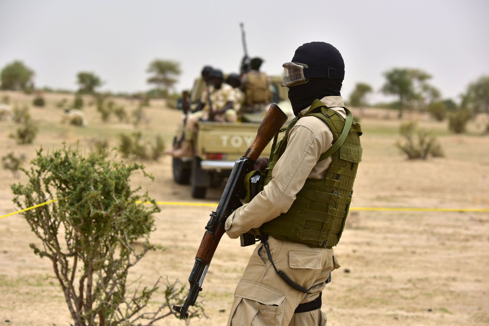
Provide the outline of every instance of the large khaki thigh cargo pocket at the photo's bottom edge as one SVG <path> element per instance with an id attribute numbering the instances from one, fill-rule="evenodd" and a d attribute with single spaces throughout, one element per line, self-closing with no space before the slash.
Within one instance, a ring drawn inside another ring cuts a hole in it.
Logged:
<path id="1" fill-rule="evenodd" d="M 284 316 L 285 293 L 264 284 L 241 280 L 234 293 L 230 326 L 279 326 Z"/>

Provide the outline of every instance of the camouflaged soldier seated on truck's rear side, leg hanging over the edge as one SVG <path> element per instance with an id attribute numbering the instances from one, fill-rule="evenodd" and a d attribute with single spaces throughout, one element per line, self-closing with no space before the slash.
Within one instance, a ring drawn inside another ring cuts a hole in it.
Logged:
<path id="1" fill-rule="evenodd" d="M 223 83 L 222 71 L 215 69 L 209 77 L 213 87 L 209 87 L 207 90 L 208 95 L 203 109 L 191 113 L 187 117 L 185 136 L 181 147 L 169 152 L 174 157 L 193 156 L 193 144 L 197 138 L 199 121 L 235 122 L 238 119 L 234 109 L 234 103 L 237 102 L 235 91 L 233 87 Z"/>

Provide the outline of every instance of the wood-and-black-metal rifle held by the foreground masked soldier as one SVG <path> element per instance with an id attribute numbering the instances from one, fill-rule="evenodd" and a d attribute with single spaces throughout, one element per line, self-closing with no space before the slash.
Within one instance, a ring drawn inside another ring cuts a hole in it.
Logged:
<path id="1" fill-rule="evenodd" d="M 219 205 L 216 211 L 211 213 L 211 218 L 205 226 L 207 231 L 205 231 L 200 242 L 200 247 L 195 257 L 194 268 L 192 268 L 192 272 L 188 278 L 190 290 L 187 299 L 183 305 L 173 306 L 173 310 L 180 313 L 180 318 L 188 317 L 187 311 L 189 306 L 195 304 L 199 292 L 202 291 L 202 283 L 204 282 L 212 256 L 214 256 L 219 241 L 225 232 L 224 223 L 226 222 L 226 218 L 234 210 L 242 206 L 240 198 L 243 199 L 246 196 L 244 176 L 253 170 L 253 165 L 257 158 L 286 121 L 287 115 L 275 103 L 272 103 L 270 109 L 267 111 L 267 115 L 258 128 L 258 133 L 253 144 L 244 153 L 243 157 L 239 158 L 234 164 Z M 246 235 L 253 237 L 251 234 Z M 254 241 L 255 239 L 253 237 Z"/>

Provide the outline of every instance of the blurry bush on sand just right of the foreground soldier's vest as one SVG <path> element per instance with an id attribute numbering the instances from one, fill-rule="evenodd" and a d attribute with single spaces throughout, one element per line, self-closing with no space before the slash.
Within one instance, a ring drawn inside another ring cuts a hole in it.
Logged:
<path id="1" fill-rule="evenodd" d="M 396 146 L 407 155 L 408 159 L 427 159 L 444 156 L 441 145 L 431 132 L 418 128 L 417 123 L 409 121 L 400 126 L 400 134 L 404 142 L 398 141 Z"/>

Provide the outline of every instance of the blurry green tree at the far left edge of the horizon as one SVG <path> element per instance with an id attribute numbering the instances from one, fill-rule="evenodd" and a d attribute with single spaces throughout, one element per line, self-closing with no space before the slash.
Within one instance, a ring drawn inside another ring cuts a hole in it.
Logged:
<path id="1" fill-rule="evenodd" d="M 0 73 L 0 88 L 9 90 L 32 88 L 34 86 L 33 77 L 34 70 L 24 65 L 22 61 L 14 61 L 2 69 Z"/>

